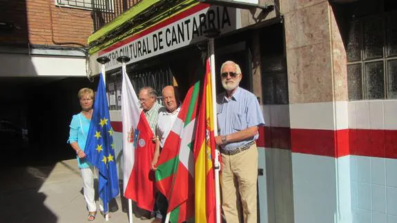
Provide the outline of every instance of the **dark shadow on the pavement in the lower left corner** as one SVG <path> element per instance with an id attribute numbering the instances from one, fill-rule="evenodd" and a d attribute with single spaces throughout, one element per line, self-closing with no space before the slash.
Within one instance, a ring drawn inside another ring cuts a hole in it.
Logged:
<path id="1" fill-rule="evenodd" d="M 44 204 L 46 195 L 39 191 L 54 166 L 10 165 L 0 168 L 1 222 L 57 222 L 57 216 Z"/>

